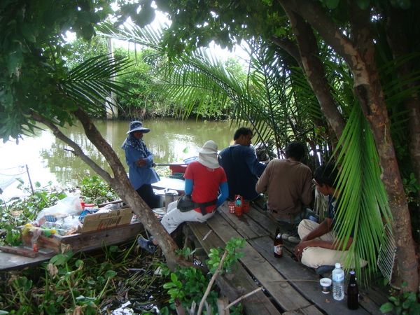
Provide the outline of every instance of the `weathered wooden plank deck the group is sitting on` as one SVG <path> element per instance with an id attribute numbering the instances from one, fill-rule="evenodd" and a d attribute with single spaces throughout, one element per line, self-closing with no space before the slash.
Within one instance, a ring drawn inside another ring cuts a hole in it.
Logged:
<path id="1" fill-rule="evenodd" d="M 257 204 L 251 203 L 249 213 L 238 217 L 229 213 L 225 202 L 207 224 L 188 223 L 184 232 L 194 241 L 199 255 L 200 249 L 204 250 L 203 256 L 210 248 L 225 247 L 232 237 L 246 239 L 241 265 L 233 274 L 218 279 L 218 286 L 230 301 L 260 286 L 264 288 L 241 301 L 246 314 L 381 314 L 379 307 L 387 302 L 387 290 L 360 290 L 360 307 L 350 311 L 346 298 L 338 302 L 332 299 L 332 293 L 323 294 L 320 276 L 291 258 L 293 244 L 284 242 L 283 257 L 274 258 L 275 228 L 276 223 L 269 220 Z M 285 224 L 281 228 L 285 232 L 289 227 Z"/>

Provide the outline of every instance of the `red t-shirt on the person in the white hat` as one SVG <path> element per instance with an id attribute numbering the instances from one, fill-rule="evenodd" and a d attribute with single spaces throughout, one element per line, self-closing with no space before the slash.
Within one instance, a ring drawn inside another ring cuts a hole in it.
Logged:
<path id="1" fill-rule="evenodd" d="M 194 202 L 210 202 L 217 199 L 219 186 L 228 181 L 223 167 L 210 169 L 197 161 L 188 164 L 184 177 L 194 182 L 191 193 Z M 206 212 L 209 214 L 215 208 L 216 204 L 206 207 Z M 200 208 L 194 210 L 201 214 Z"/>

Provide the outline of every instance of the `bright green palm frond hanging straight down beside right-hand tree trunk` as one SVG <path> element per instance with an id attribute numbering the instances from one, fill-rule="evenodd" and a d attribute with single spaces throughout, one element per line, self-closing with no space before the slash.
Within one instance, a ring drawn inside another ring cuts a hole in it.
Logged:
<path id="1" fill-rule="evenodd" d="M 354 228 L 353 244 L 346 256 L 346 266 L 355 266 L 360 274 L 360 260 L 377 269 L 379 246 L 384 244 L 384 223 L 391 218 L 387 195 L 380 175 L 379 157 L 360 106 L 353 106 L 351 116 L 339 141 L 342 151 L 337 158 L 341 192 L 338 217 L 345 222 L 337 238 L 346 240 Z M 345 267 L 346 267 L 345 266 Z"/>

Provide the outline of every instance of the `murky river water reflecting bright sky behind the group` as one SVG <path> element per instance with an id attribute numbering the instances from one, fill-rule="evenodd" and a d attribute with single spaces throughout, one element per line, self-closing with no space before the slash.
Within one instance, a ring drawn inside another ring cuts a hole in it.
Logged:
<path id="1" fill-rule="evenodd" d="M 151 132 L 144 134 L 144 141 L 154 154 L 154 161 L 157 164 L 182 162 L 183 159 L 193 157 L 197 155 L 197 148 L 208 140 L 214 140 L 218 144 L 218 149 L 222 150 L 230 145 L 237 128 L 231 127 L 227 122 L 171 118 L 145 120 L 143 123 L 144 127 L 151 129 Z M 126 132 L 130 122 L 98 120 L 95 121 L 95 125 L 127 168 L 121 145 L 127 137 Z M 102 155 L 87 140 L 81 125 L 64 128 L 62 132 L 79 144 L 92 160 L 110 171 Z M 69 149 L 71 148 L 56 139 L 52 132 L 45 128 L 36 131 L 34 137 L 25 137 L 18 145 L 13 141 L 1 143 L 0 177 L 1 174 L 26 172 L 25 165 L 27 165 L 32 183 L 39 182 L 41 186 L 46 186 L 51 181 L 53 185 L 74 187 L 80 184 L 80 179 L 85 176 L 97 175 L 82 160 L 68 151 Z M 19 177 L 25 181 L 25 185 L 29 185 L 27 173 Z M 3 197 L 14 195 L 17 184 L 18 182 L 15 182 L 8 186 L 4 190 Z"/>

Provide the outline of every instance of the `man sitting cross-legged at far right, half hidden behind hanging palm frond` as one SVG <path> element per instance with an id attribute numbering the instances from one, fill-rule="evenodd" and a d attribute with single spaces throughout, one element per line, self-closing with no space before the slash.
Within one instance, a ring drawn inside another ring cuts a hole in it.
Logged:
<path id="1" fill-rule="evenodd" d="M 303 220 L 297 229 L 302 240 L 295 246 L 295 255 L 302 264 L 311 268 L 334 266 L 336 262 L 344 265 L 346 258 L 347 252 L 344 251 L 344 255 L 342 255 L 342 244 L 337 241 L 336 237 L 342 225 L 342 222 L 337 219 L 339 202 L 339 190 L 335 186 L 337 174 L 337 169 L 331 164 L 322 165 L 315 170 L 314 179 L 318 190 L 323 195 L 328 195 L 330 199 L 327 218 L 320 224 Z M 346 243 L 345 250 L 348 250 L 353 242 L 353 233 L 354 228 Z M 367 262 L 360 258 L 360 267 L 366 264 Z"/>

